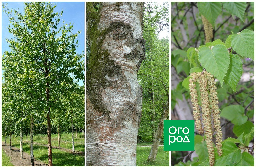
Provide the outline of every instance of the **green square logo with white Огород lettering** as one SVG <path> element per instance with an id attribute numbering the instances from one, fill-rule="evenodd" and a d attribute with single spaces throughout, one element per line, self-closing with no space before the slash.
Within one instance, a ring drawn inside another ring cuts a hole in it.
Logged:
<path id="1" fill-rule="evenodd" d="M 195 150 L 194 120 L 164 120 L 164 150 Z"/>

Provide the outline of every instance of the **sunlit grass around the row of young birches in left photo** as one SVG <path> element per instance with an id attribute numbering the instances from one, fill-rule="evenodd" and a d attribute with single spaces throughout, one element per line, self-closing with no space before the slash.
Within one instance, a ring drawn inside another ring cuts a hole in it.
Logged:
<path id="1" fill-rule="evenodd" d="M 77 134 L 78 138 L 74 138 L 75 150 L 84 152 L 84 138 L 82 133 Z M 80 138 L 79 138 L 80 137 Z M 2 137 L 4 139 L 4 137 Z M 83 139 L 83 140 L 82 140 Z M 23 138 L 23 151 L 30 154 L 30 136 L 28 136 L 28 142 L 26 136 Z M 47 144 L 47 135 L 35 135 L 33 141 L 40 144 Z M 9 137 L 7 137 L 7 145 L 9 144 Z M 12 136 L 12 146 L 20 148 L 19 137 Z M 58 146 L 58 135 L 52 134 L 52 146 Z M 62 134 L 61 136 L 61 148 L 72 149 L 72 134 Z M 48 164 L 48 148 L 42 145 L 33 145 L 34 157 L 46 164 Z M 52 149 L 52 160 L 54 166 L 84 166 L 84 156 L 62 151 L 59 149 Z"/>

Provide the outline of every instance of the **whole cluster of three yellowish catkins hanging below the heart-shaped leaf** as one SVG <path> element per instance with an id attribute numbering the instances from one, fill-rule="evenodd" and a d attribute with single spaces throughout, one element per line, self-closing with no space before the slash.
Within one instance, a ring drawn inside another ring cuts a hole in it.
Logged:
<path id="1" fill-rule="evenodd" d="M 214 76 L 209 72 L 198 72 L 191 73 L 189 79 L 189 90 L 191 95 L 191 102 L 193 105 L 193 116 L 195 120 L 196 129 L 198 133 L 203 133 L 205 131 L 206 135 L 206 145 L 209 153 L 209 163 L 210 166 L 214 165 L 214 143 L 212 141 L 213 131 L 212 131 L 212 118 L 214 123 L 214 129 L 216 131 L 216 148 L 218 155 L 222 155 L 222 132 L 220 127 L 220 115 L 218 107 L 218 97 L 217 88 L 215 86 Z M 198 95 L 196 90 L 196 82 L 200 86 L 201 95 L 201 108 L 202 108 L 202 123 L 204 128 L 202 128 L 200 120 L 200 111 L 198 105 Z M 210 98 L 209 98 L 210 97 Z M 211 101 L 210 101 L 211 100 Z"/>

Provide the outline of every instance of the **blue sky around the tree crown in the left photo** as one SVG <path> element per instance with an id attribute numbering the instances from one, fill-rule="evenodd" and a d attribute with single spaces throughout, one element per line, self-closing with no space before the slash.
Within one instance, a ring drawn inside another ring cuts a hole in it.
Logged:
<path id="1" fill-rule="evenodd" d="M 6 4 L 6 2 L 4 2 Z M 62 19 L 65 21 L 65 24 L 73 23 L 73 31 L 81 31 L 78 34 L 78 41 L 80 46 L 77 48 L 77 53 L 85 53 L 85 29 L 84 29 L 84 2 L 51 2 L 56 4 L 54 12 L 61 12 L 63 9 Z M 24 3 L 23 2 L 7 2 L 8 9 L 15 9 L 24 13 Z M 62 23 L 62 21 L 60 23 Z M 9 23 L 9 18 L 2 10 L 2 55 L 5 51 L 10 51 L 9 44 L 6 42 L 6 38 L 13 38 L 12 34 L 9 33 L 7 27 Z M 82 81 L 78 82 L 79 85 L 83 85 Z"/>

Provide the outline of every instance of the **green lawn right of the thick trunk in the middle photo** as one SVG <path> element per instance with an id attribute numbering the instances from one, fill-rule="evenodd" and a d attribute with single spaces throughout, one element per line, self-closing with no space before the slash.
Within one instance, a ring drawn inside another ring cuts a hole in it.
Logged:
<path id="1" fill-rule="evenodd" d="M 164 151 L 163 146 L 159 146 L 156 161 L 147 162 L 151 147 L 137 146 L 137 166 L 169 166 L 169 151 Z"/>

